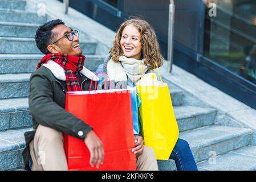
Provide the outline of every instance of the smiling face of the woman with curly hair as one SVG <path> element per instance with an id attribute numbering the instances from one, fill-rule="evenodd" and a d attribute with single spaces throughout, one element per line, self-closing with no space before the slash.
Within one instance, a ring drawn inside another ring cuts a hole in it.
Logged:
<path id="1" fill-rule="evenodd" d="M 125 57 L 134 58 L 140 60 L 141 57 L 141 35 L 135 26 L 128 25 L 124 28 L 120 46 Z"/>

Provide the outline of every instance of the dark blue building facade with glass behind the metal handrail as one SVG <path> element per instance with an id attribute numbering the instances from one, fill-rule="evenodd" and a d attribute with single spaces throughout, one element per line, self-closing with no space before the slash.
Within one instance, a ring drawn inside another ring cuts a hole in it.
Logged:
<path id="1" fill-rule="evenodd" d="M 70 6 L 116 31 L 147 20 L 167 58 L 169 0 L 77 0 Z M 173 63 L 256 109 L 256 1 L 174 0 Z"/>

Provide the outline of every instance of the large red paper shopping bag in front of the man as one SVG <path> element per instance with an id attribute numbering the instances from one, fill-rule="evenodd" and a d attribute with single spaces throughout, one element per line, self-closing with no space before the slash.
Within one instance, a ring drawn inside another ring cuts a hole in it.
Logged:
<path id="1" fill-rule="evenodd" d="M 83 140 L 64 134 L 69 170 L 136 170 L 131 94 L 126 90 L 67 92 L 66 110 L 94 128 L 103 142 L 104 161 L 92 168 Z"/>

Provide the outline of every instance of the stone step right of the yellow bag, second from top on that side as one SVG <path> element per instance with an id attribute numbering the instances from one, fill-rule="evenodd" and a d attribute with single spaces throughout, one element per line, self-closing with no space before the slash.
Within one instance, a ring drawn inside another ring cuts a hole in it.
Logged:
<path id="1" fill-rule="evenodd" d="M 173 110 L 180 132 L 214 125 L 217 114 L 216 109 L 196 106 L 174 106 Z"/>

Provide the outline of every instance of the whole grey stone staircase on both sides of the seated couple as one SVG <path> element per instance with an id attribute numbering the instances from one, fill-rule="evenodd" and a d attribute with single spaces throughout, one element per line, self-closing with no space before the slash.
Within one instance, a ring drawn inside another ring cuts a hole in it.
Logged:
<path id="1" fill-rule="evenodd" d="M 23 133 L 32 127 L 27 99 L 29 77 L 42 58 L 34 36 L 46 20 L 27 13 L 26 1 L 0 0 L 0 170 L 22 168 Z M 104 55 L 96 51 L 99 44 L 84 35 L 80 45 L 87 57 L 86 67 L 95 71 L 104 60 Z M 171 82 L 169 89 L 180 138 L 189 142 L 200 170 L 256 169 L 253 131 L 216 125 L 217 109 L 184 102 L 185 92 Z M 209 163 L 212 154 L 217 156 L 213 158 L 216 164 Z M 173 161 L 159 161 L 159 168 L 176 169 Z"/>

